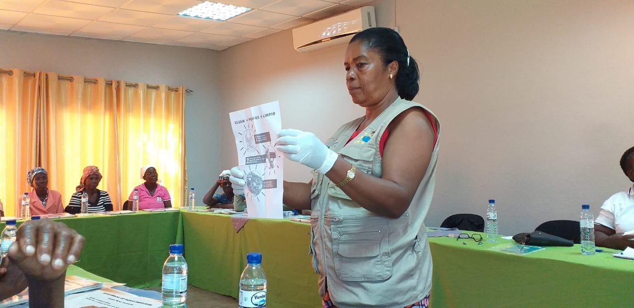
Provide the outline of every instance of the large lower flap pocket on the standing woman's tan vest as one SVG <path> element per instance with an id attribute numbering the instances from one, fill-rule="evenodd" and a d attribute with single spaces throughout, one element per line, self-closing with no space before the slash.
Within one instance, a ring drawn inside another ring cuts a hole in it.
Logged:
<path id="1" fill-rule="evenodd" d="M 357 218 L 357 217 L 355 217 Z M 343 281 L 377 281 L 392 276 L 387 221 L 378 217 L 333 224 L 335 272 Z"/>

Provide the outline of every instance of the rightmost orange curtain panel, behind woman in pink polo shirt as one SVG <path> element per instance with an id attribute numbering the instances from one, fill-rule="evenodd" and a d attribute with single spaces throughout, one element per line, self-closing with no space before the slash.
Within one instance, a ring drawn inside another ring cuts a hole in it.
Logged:
<path id="1" fill-rule="evenodd" d="M 184 203 L 184 87 L 158 89 L 146 84 L 117 87 L 117 117 L 120 149 L 122 198 L 127 199 L 143 183 L 140 169 L 154 165 L 161 185 L 172 197 L 172 206 Z"/>

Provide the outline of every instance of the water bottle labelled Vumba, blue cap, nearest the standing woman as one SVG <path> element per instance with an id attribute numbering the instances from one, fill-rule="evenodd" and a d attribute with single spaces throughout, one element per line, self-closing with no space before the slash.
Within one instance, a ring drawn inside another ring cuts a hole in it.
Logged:
<path id="1" fill-rule="evenodd" d="M 240 276 L 238 307 L 266 307 L 266 276 L 262 269 L 261 253 L 247 255 L 247 267 Z"/>

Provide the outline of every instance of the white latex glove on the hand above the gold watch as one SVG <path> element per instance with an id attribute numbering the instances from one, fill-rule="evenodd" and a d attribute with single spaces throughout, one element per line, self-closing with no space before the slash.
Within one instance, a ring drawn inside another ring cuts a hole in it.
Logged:
<path id="1" fill-rule="evenodd" d="M 311 132 L 282 129 L 275 148 L 294 162 L 326 174 L 337 161 L 337 153 L 330 150 Z"/>

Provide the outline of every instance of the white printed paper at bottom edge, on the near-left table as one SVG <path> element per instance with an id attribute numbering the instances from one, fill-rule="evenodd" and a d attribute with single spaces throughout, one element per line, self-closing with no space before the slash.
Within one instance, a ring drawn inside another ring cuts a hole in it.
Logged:
<path id="1" fill-rule="evenodd" d="M 65 307 L 77 308 L 153 308 L 161 307 L 161 302 L 119 290 L 102 289 L 67 297 L 64 300 L 64 305 Z"/>

